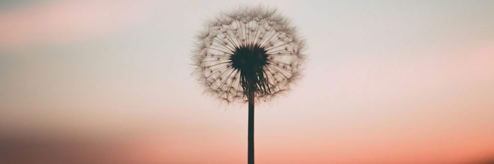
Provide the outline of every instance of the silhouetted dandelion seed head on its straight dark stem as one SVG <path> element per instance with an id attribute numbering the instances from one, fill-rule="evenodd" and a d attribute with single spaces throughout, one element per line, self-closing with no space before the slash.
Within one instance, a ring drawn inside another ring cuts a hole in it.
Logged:
<path id="1" fill-rule="evenodd" d="M 194 74 L 220 100 L 249 103 L 248 163 L 254 163 L 254 104 L 301 76 L 305 42 L 276 9 L 242 7 L 207 22 L 197 36 Z"/>

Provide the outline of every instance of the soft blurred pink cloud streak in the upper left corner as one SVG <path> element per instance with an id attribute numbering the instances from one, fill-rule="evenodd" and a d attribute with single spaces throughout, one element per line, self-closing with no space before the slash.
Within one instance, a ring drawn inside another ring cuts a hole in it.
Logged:
<path id="1" fill-rule="evenodd" d="M 61 1 L 7 9 L 0 13 L 0 47 L 63 43 L 101 36 L 138 24 L 149 14 L 146 4 Z"/>

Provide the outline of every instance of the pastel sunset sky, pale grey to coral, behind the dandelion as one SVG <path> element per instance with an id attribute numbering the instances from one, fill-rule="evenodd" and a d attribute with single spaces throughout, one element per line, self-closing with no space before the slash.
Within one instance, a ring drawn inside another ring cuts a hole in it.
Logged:
<path id="1" fill-rule="evenodd" d="M 0 2 L 0 163 L 245 163 L 247 105 L 204 95 L 190 56 L 258 4 L 308 60 L 257 103 L 257 163 L 494 158 L 492 1 L 89 0 Z"/>

